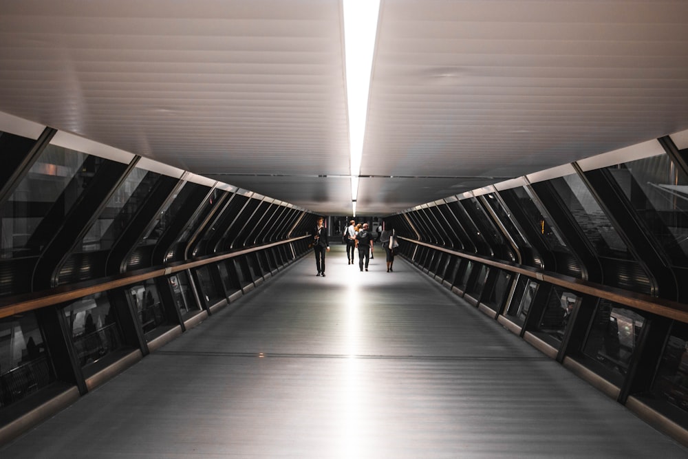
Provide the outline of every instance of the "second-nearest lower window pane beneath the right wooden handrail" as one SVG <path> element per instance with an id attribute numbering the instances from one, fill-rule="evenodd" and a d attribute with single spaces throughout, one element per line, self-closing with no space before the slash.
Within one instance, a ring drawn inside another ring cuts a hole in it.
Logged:
<path id="1" fill-rule="evenodd" d="M 610 370 L 625 375 L 645 319 L 612 301 L 600 300 L 583 352 Z"/>

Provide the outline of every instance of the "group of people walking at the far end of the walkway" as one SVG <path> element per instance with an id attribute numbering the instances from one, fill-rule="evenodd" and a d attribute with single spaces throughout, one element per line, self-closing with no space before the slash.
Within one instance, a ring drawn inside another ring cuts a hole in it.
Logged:
<path id="1" fill-rule="evenodd" d="M 344 229 L 343 242 L 346 243 L 348 264 L 354 264 L 354 253 L 358 250 L 358 268 L 368 270 L 369 261 L 373 259 L 375 242 L 378 240 L 385 249 L 387 273 L 394 272 L 394 248 L 396 233 L 394 228 L 387 226 L 385 229 L 378 226 L 377 235 L 369 231 L 367 223 L 356 224 L 354 220 Z M 330 240 L 327 237 L 327 229 L 323 226 L 323 219 L 318 219 L 318 224 L 312 233 L 315 264 L 318 270 L 317 276 L 325 277 L 325 253 L 330 251 Z"/>

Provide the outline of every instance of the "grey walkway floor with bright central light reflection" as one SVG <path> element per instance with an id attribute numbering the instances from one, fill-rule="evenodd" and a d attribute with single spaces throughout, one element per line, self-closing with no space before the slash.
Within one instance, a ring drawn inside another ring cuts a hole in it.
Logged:
<path id="1" fill-rule="evenodd" d="M 312 256 L 1 458 L 686 458 L 402 259 Z"/>

